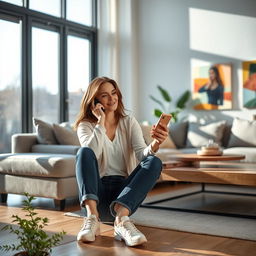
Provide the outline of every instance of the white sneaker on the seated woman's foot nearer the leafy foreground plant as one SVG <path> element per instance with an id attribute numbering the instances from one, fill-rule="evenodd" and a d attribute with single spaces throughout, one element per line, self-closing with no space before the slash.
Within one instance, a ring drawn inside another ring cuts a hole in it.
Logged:
<path id="1" fill-rule="evenodd" d="M 84 224 L 77 235 L 77 241 L 93 242 L 100 234 L 100 222 L 95 215 L 84 218 Z"/>

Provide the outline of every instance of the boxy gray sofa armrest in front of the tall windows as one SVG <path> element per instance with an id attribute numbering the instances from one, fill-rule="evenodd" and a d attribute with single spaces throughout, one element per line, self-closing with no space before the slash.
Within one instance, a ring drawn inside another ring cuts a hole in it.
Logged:
<path id="1" fill-rule="evenodd" d="M 34 144 L 37 144 L 35 133 L 18 133 L 12 135 L 12 153 L 29 153 Z"/>

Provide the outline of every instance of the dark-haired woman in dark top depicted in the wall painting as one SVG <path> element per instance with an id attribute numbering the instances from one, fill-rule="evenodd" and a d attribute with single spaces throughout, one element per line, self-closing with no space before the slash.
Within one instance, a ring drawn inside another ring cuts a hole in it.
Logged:
<path id="1" fill-rule="evenodd" d="M 199 92 L 207 93 L 209 104 L 223 105 L 224 87 L 216 66 L 212 66 L 209 69 L 209 80 L 209 83 L 201 87 Z"/>

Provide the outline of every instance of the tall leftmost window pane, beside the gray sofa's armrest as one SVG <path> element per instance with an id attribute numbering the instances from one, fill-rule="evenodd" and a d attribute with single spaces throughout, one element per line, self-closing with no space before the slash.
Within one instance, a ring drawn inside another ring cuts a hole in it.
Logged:
<path id="1" fill-rule="evenodd" d="M 1 15 L 0 15 L 1 18 Z M 0 152 L 21 132 L 21 21 L 0 19 Z"/>

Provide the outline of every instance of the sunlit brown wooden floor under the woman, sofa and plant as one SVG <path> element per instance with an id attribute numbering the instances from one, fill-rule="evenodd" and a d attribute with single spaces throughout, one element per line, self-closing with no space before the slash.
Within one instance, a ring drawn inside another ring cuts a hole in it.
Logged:
<path id="1" fill-rule="evenodd" d="M 188 185 L 171 186 L 168 183 L 160 184 L 153 189 L 151 194 L 177 190 Z M 24 197 L 10 195 L 7 205 L 0 205 L 0 227 L 6 223 L 11 223 L 12 214 L 22 214 L 21 205 Z M 76 235 L 82 225 L 80 218 L 71 218 L 63 215 L 63 212 L 56 211 L 50 199 L 37 199 L 34 202 L 37 212 L 42 216 L 47 216 L 50 224 L 47 231 L 58 232 L 65 230 L 67 236 L 63 243 L 53 249 L 52 256 L 249 256 L 255 255 L 256 242 L 230 239 L 216 236 L 198 235 L 172 230 L 156 229 L 149 227 L 138 227 L 147 237 L 148 243 L 136 248 L 127 247 L 124 243 L 113 239 L 113 227 L 101 225 L 101 236 L 94 243 L 83 244 L 76 242 Z M 66 211 L 79 210 L 77 200 L 67 202 Z M 14 241 L 15 236 L 7 232 L 0 232 L 0 244 Z M 11 256 L 14 253 L 3 253 L 0 255 Z"/>

